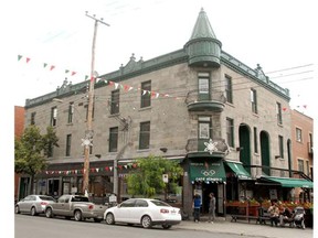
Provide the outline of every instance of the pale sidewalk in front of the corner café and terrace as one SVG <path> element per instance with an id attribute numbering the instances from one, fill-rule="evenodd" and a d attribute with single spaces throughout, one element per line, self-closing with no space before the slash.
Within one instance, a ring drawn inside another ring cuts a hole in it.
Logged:
<path id="1" fill-rule="evenodd" d="M 271 225 L 259 225 L 255 220 L 240 220 L 231 223 L 231 217 L 216 217 L 213 224 L 206 223 L 206 217 L 201 217 L 200 223 L 191 220 L 182 220 L 180 225 L 174 226 L 179 229 L 204 230 L 211 232 L 237 234 L 240 236 L 254 236 L 267 238 L 312 238 L 312 228 L 289 228 L 286 227 L 271 227 Z"/>

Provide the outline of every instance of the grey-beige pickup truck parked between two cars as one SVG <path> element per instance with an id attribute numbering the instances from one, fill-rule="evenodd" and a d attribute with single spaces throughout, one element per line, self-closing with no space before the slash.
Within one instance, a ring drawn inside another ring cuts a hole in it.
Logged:
<path id="1" fill-rule="evenodd" d="M 45 216 L 47 218 L 64 216 L 66 219 L 73 217 L 77 221 L 93 218 L 96 223 L 100 223 L 106 208 L 105 205 L 96 205 L 89 202 L 86 196 L 62 195 L 56 203 L 46 206 Z"/>

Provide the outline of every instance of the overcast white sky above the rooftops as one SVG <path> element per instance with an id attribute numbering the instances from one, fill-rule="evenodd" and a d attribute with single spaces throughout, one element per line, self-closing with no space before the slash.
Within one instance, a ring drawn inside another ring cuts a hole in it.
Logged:
<path id="1" fill-rule="evenodd" d="M 1 29 L 7 32 L 1 40 L 1 65 L 6 65 L 1 72 L 6 86 L 13 89 L 2 88 L 0 96 L 9 101 L 9 116 L 12 105 L 24 106 L 26 98 L 54 91 L 65 77 L 76 84 L 89 75 L 94 21 L 86 11 L 110 25 L 97 29 L 95 71 L 103 75 L 126 65 L 132 53 L 136 60 L 147 61 L 182 48 L 201 8 L 223 51 L 252 68 L 259 64 L 271 80 L 290 90 L 293 109 L 317 116 L 315 0 L 12 0 L 0 4 Z"/>

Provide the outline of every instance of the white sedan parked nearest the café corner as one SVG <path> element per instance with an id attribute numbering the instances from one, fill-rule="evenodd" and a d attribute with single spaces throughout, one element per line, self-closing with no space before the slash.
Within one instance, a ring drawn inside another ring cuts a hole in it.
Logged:
<path id="1" fill-rule="evenodd" d="M 167 203 L 151 198 L 130 198 L 121 204 L 107 208 L 104 213 L 106 224 L 125 223 L 151 228 L 161 225 L 163 229 L 181 223 L 181 212 Z"/>

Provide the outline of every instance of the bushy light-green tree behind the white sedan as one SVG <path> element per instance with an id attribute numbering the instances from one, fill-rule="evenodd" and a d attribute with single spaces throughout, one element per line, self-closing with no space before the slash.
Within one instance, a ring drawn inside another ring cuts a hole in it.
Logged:
<path id="1" fill-rule="evenodd" d="M 148 156 L 138 159 L 137 164 L 138 169 L 127 176 L 128 194 L 153 197 L 166 192 L 168 186 L 172 193 L 176 192 L 177 180 L 183 171 L 178 162 L 160 156 Z M 169 176 L 168 184 L 162 180 L 163 174 Z"/>

